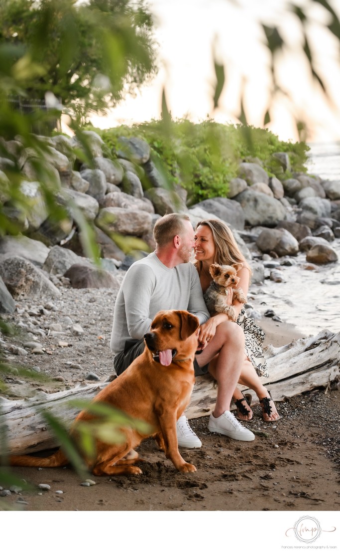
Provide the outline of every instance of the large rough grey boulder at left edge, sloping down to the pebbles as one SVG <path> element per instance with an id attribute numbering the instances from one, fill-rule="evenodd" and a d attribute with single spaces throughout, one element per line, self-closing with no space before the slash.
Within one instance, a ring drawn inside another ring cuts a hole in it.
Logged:
<path id="1" fill-rule="evenodd" d="M 60 291 L 44 272 L 23 257 L 8 257 L 1 261 L 0 276 L 14 299 L 60 296 Z"/>

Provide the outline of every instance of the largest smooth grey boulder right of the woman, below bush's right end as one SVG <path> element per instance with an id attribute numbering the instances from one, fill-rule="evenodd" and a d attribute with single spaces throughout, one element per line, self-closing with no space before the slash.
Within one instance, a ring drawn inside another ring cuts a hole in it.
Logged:
<path id="1" fill-rule="evenodd" d="M 236 195 L 234 200 L 240 203 L 245 221 L 250 226 L 276 226 L 286 218 L 286 210 L 278 199 L 251 189 Z"/>

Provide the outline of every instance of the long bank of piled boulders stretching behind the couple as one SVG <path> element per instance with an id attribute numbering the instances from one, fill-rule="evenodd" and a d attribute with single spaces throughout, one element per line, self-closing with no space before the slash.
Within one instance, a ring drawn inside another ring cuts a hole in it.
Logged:
<path id="1" fill-rule="evenodd" d="M 206 199 L 188 207 L 186 190 L 169 190 L 150 158 L 149 145 L 137 137 L 122 137 L 116 159 L 105 157 L 98 134 L 85 132 L 93 156 L 91 167 L 79 152 L 82 144 L 66 136 L 45 138 L 47 172 L 57 204 L 66 206 L 67 220 L 57 225 L 48 216 L 39 186 L 34 154 L 19 140 L 2 141 L 8 158 L 0 158 L 1 197 L 8 219 L 21 235 L 0 238 L 0 312 L 13 312 L 15 300 L 30 296 L 55 298 L 58 287 L 118 288 L 117 270 L 127 269 L 136 256 L 123 251 L 126 243 L 139 256 L 152 251 L 155 220 L 182 212 L 193 226 L 219 217 L 233 229 L 253 269 L 253 281 L 263 282 L 263 262 L 306 254 L 311 263 L 337 261 L 332 241 L 340 236 L 340 181 L 292 174 L 287 153 L 274 154 L 282 178 L 269 177 L 257 159 L 240 162 L 239 176 L 229 183 L 229 197 Z M 30 200 L 29 213 L 8 202 L 6 169 L 13 156 L 25 179 L 21 192 Z M 85 258 L 77 213 L 93 226 L 102 266 Z M 144 245 L 142 245 L 144 244 Z M 144 251 L 141 251 L 143 250 Z M 116 273 L 116 275 L 115 275 Z M 269 275 L 270 277 L 270 275 Z"/>

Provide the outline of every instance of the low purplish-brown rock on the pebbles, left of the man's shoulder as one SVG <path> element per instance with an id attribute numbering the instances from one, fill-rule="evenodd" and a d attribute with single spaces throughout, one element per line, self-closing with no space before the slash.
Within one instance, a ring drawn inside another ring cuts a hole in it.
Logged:
<path id="1" fill-rule="evenodd" d="M 83 264 L 73 264 L 64 277 L 68 278 L 72 288 L 114 288 L 118 289 L 120 283 L 117 278 L 106 270 L 95 267 L 87 267 Z"/>

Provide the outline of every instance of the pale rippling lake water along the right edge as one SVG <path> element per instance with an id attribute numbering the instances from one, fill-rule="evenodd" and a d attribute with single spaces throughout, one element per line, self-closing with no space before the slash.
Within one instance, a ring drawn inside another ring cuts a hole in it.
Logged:
<path id="1" fill-rule="evenodd" d="M 340 180 L 340 142 L 310 147 L 308 171 L 324 179 Z M 316 335 L 326 328 L 340 331 L 340 240 L 330 245 L 339 262 L 307 270 L 305 253 L 299 253 L 295 266 L 282 267 L 284 282 L 265 280 L 261 288 L 254 286 L 256 308 L 262 313 L 273 309 L 283 321 L 294 324 L 306 335 Z"/>

